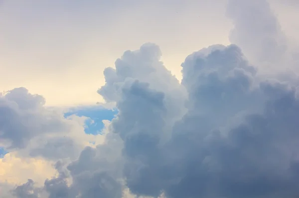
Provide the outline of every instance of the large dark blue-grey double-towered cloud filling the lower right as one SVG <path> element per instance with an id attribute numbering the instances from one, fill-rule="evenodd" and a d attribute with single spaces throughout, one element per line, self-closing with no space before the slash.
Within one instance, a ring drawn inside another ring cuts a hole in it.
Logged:
<path id="1" fill-rule="evenodd" d="M 286 157 L 296 152 L 288 148 L 291 142 L 298 143 L 295 89 L 271 80 L 259 82 L 235 45 L 208 51 L 194 53 L 182 64 L 188 112 L 164 145 L 163 93 L 139 81 L 123 89 L 112 127 L 124 141 L 128 187 L 137 195 L 164 192 L 172 198 L 297 195 L 297 181 L 290 175 L 298 173 L 288 168 L 296 159 Z M 239 112 L 245 115 L 242 122 L 227 126 Z M 288 138 L 282 139 L 284 135 Z"/>

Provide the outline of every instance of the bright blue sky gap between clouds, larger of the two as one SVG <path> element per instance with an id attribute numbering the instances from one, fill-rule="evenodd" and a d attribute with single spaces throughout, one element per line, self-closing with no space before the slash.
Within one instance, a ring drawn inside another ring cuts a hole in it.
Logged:
<path id="1" fill-rule="evenodd" d="M 87 134 L 99 134 L 104 128 L 102 120 L 112 120 L 118 113 L 117 110 L 105 109 L 101 106 L 88 106 L 76 109 L 71 109 L 65 113 L 64 116 L 70 115 L 85 116 L 90 119 L 85 122 L 85 133 Z"/>

